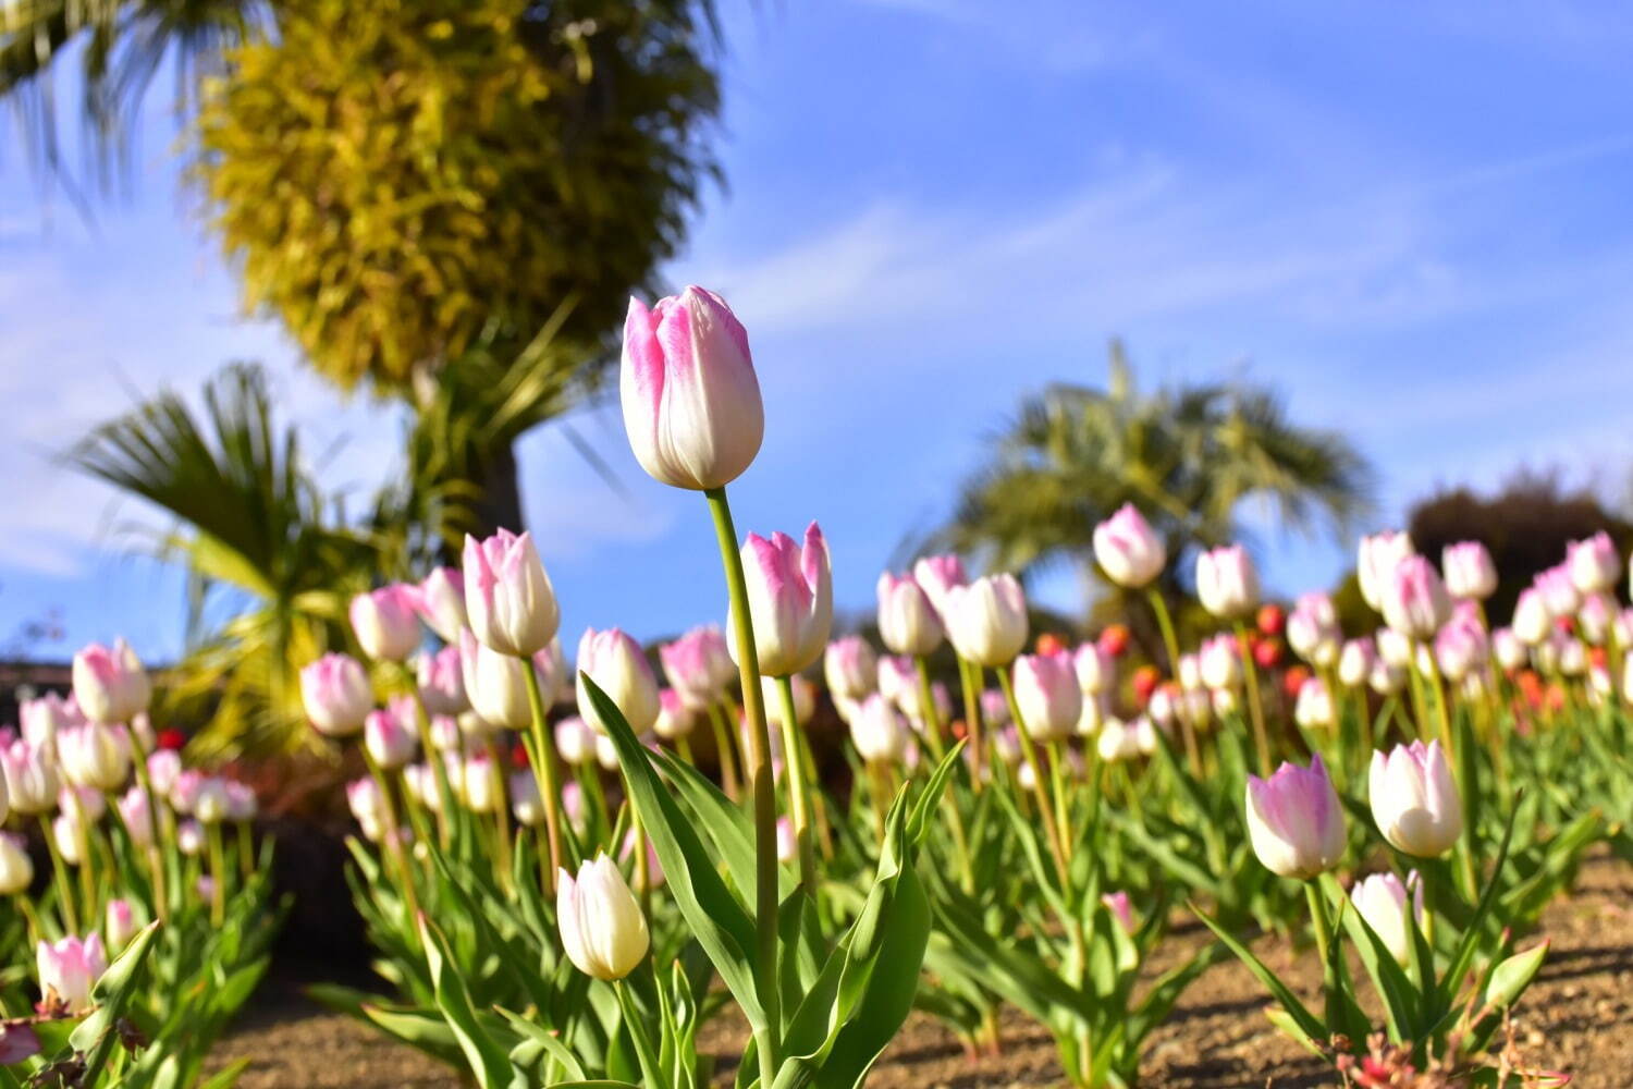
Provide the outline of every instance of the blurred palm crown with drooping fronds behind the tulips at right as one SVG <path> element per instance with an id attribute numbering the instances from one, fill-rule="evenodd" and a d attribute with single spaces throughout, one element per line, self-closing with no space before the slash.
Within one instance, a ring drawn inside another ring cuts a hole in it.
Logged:
<path id="1" fill-rule="evenodd" d="M 1368 511 L 1372 470 L 1334 433 L 1295 424 L 1267 389 L 1192 384 L 1141 392 L 1119 341 L 1106 389 L 1057 384 L 1021 403 L 965 480 L 929 547 L 1030 578 L 1071 565 L 1099 583 L 1094 526 L 1133 503 L 1168 544 L 1164 588 L 1199 547 L 1248 537 L 1246 501 L 1284 529 L 1344 536 Z"/>

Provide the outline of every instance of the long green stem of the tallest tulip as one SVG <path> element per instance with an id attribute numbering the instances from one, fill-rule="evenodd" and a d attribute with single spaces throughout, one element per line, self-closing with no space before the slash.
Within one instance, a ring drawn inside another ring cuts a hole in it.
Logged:
<path id="1" fill-rule="evenodd" d="M 725 567 L 727 594 L 732 602 L 732 632 L 736 638 L 736 663 L 743 682 L 743 710 L 748 717 L 748 780 L 754 797 L 754 927 L 758 957 L 754 960 L 756 989 L 764 1007 L 766 1025 L 759 1033 L 759 1084 L 768 1087 L 777 1079 L 782 1058 L 782 996 L 777 975 L 777 798 L 771 782 L 771 731 L 766 727 L 766 709 L 759 694 L 759 651 L 754 647 L 754 620 L 748 612 L 748 578 L 743 575 L 743 555 L 738 552 L 736 527 L 732 524 L 732 506 L 725 488 L 704 493 L 714 518 L 715 537 L 720 545 L 720 563 Z"/>

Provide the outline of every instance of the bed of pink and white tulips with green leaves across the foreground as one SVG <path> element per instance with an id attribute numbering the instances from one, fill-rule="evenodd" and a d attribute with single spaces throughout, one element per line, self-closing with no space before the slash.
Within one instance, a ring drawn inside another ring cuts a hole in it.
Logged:
<path id="1" fill-rule="evenodd" d="M 1047 1040 L 1050 1078 L 1125 1087 L 1172 1043 L 1187 991 L 1231 963 L 1334 1084 L 1564 1084 L 1546 1040 L 1515 1051 L 1512 1017 L 1548 957 L 1533 931 L 1587 852 L 1633 857 L 1633 692 L 1612 673 L 1633 617 L 1607 539 L 1489 630 L 1484 549 L 1448 550 L 1442 575 L 1404 536 L 1368 537 L 1382 627 L 1346 638 L 1306 594 L 1285 617 L 1302 663 L 1282 669 L 1282 617 L 1261 616 L 1239 545 L 1197 555 L 1212 625 L 1181 647 L 1156 589 L 1168 547 L 1128 506 L 1096 555 L 1146 594 L 1166 668 L 1132 668 L 1114 632 L 1034 638 L 1017 580 L 957 557 L 880 576 L 875 648 L 834 638 L 815 524 L 738 536 L 727 485 L 763 411 L 723 300 L 632 304 L 622 405 L 645 470 L 702 493 L 725 627 L 660 650 L 666 687 L 619 629 L 586 632 L 568 674 L 554 586 L 505 531 L 469 539 L 462 570 L 358 596 L 351 653 L 300 686 L 312 725 L 367 767 L 348 790 L 351 891 L 395 993 L 318 988 L 330 1007 L 483 1089 L 851 1089 L 910 1016 L 975 1056 Z M 848 725 L 848 784 L 816 774 L 820 705 Z M 65 769 L 140 756 L 134 731 L 103 740 L 95 722 L 59 743 Z M 70 777 L 108 792 L 118 772 Z M 225 813 L 230 789 L 214 790 Z M 219 924 L 235 873 L 220 821 L 202 790 L 180 808 L 201 823 Z M 144 859 L 185 857 L 126 838 L 131 882 Z M 64 842 L 96 859 L 82 833 Z M 162 888 L 176 905 L 191 885 Z M 154 940 L 70 1004 L 119 1016 Z"/>

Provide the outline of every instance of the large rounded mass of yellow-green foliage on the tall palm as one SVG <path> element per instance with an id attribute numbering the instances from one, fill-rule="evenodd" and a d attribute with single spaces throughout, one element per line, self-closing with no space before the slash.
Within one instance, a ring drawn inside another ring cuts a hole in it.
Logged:
<path id="1" fill-rule="evenodd" d="M 227 52 L 198 176 L 247 304 L 351 387 L 565 302 L 593 344 L 670 256 L 717 109 L 694 2 L 297 0 Z"/>

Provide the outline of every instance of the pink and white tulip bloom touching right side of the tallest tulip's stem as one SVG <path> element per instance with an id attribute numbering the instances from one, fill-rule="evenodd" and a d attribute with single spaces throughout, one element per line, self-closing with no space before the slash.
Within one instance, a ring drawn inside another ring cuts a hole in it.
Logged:
<path id="1" fill-rule="evenodd" d="M 750 534 L 743 542 L 743 573 L 761 676 L 785 678 L 816 661 L 833 624 L 833 573 L 816 522 L 805 531 L 803 547 L 782 532 L 769 540 Z M 728 630 L 736 658 L 735 620 Z"/>

